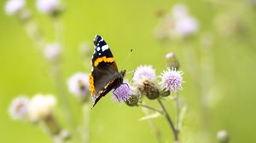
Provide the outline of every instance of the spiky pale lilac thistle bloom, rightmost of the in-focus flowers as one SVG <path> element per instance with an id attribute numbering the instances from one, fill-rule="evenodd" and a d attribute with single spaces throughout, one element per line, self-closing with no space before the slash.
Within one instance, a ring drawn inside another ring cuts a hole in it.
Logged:
<path id="1" fill-rule="evenodd" d="M 183 83 L 183 72 L 178 72 L 175 69 L 167 69 L 165 72 L 162 72 L 160 85 L 163 89 L 169 90 L 171 92 L 177 93 L 179 89 L 182 89 Z"/>

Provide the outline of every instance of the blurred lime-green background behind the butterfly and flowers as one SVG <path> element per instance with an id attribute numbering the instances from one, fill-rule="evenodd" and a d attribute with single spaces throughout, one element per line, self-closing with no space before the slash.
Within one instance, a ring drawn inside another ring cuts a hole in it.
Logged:
<path id="1" fill-rule="evenodd" d="M 42 129 L 9 117 L 11 100 L 19 94 L 56 94 L 49 65 L 38 53 L 24 26 L 4 12 L 0 1 L 0 142 L 51 142 Z M 40 14 L 35 1 L 27 0 L 47 42 L 55 39 L 52 20 Z M 90 61 L 79 52 L 79 45 L 100 34 L 107 41 L 119 68 L 134 49 L 125 69 L 152 65 L 160 74 L 166 69 L 165 55 L 174 52 L 183 71 L 183 90 L 179 93 L 187 106 L 180 134 L 183 142 L 217 142 L 218 130 L 230 134 L 230 142 L 255 142 L 256 114 L 256 2 L 250 0 L 63 0 L 61 15 L 64 49 L 61 66 L 66 81 L 75 72 L 90 72 Z M 183 3 L 199 23 L 193 37 L 185 40 L 160 40 L 155 28 L 160 15 Z M 210 45 L 210 46 L 209 46 Z M 208 47 L 207 47 L 208 46 Z M 88 57 L 90 59 L 90 56 Z M 131 78 L 128 75 L 127 78 Z M 82 110 L 69 94 L 76 122 Z M 153 101 L 147 100 L 154 105 Z M 173 116 L 172 102 L 166 102 Z M 157 106 L 157 105 L 154 105 Z M 62 122 L 61 107 L 55 114 Z M 148 121 L 138 121 L 144 114 L 139 107 L 129 107 L 108 95 L 90 115 L 90 142 L 156 142 Z M 154 118 L 163 142 L 172 142 L 172 132 L 164 117 Z M 65 128 L 65 124 L 61 124 Z"/>

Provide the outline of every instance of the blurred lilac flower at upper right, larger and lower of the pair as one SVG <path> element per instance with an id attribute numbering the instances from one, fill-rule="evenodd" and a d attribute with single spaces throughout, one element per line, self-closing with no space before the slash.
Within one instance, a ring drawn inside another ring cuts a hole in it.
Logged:
<path id="1" fill-rule="evenodd" d="M 174 31 L 177 36 L 188 37 L 198 31 L 198 23 L 192 17 L 183 17 L 175 22 Z"/>

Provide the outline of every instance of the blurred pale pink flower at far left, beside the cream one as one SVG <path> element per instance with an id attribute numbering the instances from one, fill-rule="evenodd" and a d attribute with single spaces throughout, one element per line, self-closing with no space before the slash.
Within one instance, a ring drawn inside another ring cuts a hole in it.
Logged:
<path id="1" fill-rule="evenodd" d="M 9 106 L 9 115 L 13 119 L 24 119 L 27 116 L 29 100 L 26 96 L 20 95 L 15 98 Z"/>

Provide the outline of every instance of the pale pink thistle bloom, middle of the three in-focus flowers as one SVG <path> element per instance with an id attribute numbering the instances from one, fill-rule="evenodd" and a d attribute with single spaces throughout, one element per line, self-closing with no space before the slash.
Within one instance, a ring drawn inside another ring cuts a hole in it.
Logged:
<path id="1" fill-rule="evenodd" d="M 135 83 L 139 83 L 143 77 L 148 77 L 150 81 L 156 79 L 154 68 L 152 66 L 138 66 L 132 80 Z"/>

